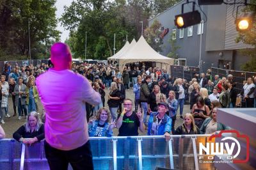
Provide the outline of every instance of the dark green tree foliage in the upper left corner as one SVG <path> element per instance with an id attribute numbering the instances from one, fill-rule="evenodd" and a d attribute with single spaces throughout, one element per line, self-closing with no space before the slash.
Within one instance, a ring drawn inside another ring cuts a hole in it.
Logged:
<path id="1" fill-rule="evenodd" d="M 42 58 L 52 42 L 60 40 L 56 30 L 56 0 L 0 0 L 0 59 L 17 56 Z M 29 30 L 29 31 L 28 31 Z"/>

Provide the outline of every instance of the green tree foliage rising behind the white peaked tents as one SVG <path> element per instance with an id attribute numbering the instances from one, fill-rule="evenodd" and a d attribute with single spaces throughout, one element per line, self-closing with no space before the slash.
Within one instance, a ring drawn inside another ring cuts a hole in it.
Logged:
<path id="1" fill-rule="evenodd" d="M 85 33 L 87 32 L 86 58 L 106 59 L 113 55 L 114 35 L 115 49 L 120 50 L 126 41 L 141 36 L 147 27 L 148 19 L 156 12 L 163 12 L 170 6 L 162 8 L 161 3 L 173 4 L 170 0 L 76 0 L 65 6 L 61 23 L 70 30 L 71 49 L 74 58 L 84 58 Z M 154 6 L 154 4 L 157 4 Z M 155 11 L 157 10 L 157 11 Z M 161 49 L 156 49 L 161 51 Z"/>

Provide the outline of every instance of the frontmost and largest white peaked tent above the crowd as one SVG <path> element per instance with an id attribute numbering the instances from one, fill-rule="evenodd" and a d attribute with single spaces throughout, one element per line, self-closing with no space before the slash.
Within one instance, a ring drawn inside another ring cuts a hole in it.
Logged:
<path id="1" fill-rule="evenodd" d="M 118 61 L 119 69 L 122 72 L 124 70 L 124 66 L 127 63 L 141 62 L 141 61 L 154 61 L 156 63 L 161 63 L 159 65 L 160 68 L 166 68 L 166 70 L 170 71 L 170 65 L 173 65 L 174 59 L 167 58 L 162 56 L 158 52 L 156 52 L 148 43 L 146 42 L 143 36 L 140 37 L 140 40 L 125 52 L 122 55 L 117 56 L 115 58 Z"/>

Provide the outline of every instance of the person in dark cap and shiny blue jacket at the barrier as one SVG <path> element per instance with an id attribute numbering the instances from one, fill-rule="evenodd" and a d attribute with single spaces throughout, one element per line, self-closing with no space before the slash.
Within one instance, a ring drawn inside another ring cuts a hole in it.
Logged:
<path id="1" fill-rule="evenodd" d="M 166 140 L 170 139 L 172 132 L 172 119 L 165 114 L 169 111 L 168 104 L 160 102 L 157 104 L 157 112 L 151 112 L 148 120 L 148 135 L 164 135 Z"/>

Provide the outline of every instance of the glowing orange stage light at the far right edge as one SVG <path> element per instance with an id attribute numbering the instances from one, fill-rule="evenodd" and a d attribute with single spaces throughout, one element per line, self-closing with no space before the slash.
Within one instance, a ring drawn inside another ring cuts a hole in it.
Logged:
<path id="1" fill-rule="evenodd" d="M 253 24 L 253 18 L 254 18 L 254 13 L 253 12 L 243 12 L 241 15 L 239 15 L 236 19 L 236 30 L 243 32 L 243 31 L 248 31 L 251 29 L 252 24 Z"/>

